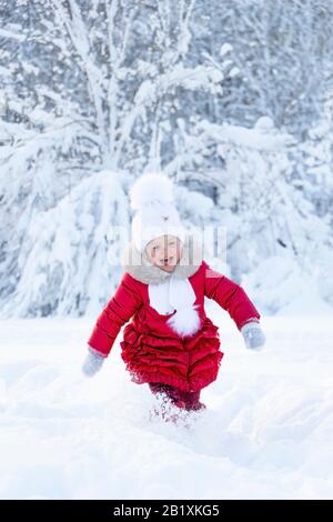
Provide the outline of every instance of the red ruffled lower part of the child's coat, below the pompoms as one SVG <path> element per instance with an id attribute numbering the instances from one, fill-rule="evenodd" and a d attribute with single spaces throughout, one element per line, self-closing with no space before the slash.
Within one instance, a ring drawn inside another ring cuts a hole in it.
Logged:
<path id="1" fill-rule="evenodd" d="M 215 381 L 224 355 L 219 329 L 209 318 L 194 335 L 183 339 L 140 333 L 130 322 L 120 345 L 133 382 L 159 382 L 182 391 L 198 391 Z"/>

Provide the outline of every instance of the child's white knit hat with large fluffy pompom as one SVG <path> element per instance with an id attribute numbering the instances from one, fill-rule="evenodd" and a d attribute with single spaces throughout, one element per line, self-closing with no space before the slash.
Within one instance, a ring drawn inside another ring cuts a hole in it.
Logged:
<path id="1" fill-rule="evenodd" d="M 132 241 L 143 252 L 147 244 L 160 235 L 174 235 L 184 241 L 183 228 L 173 198 L 173 183 L 164 174 L 149 173 L 135 180 L 130 190 Z"/>

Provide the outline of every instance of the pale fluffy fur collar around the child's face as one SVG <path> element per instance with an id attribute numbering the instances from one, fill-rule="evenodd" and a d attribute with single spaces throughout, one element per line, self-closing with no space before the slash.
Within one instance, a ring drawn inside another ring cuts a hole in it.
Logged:
<path id="1" fill-rule="evenodd" d="M 202 263 L 202 245 L 191 234 L 185 235 L 182 254 L 172 272 L 165 272 L 153 265 L 145 252 L 141 253 L 131 241 L 122 252 L 121 265 L 132 278 L 145 284 L 159 284 L 172 274 L 174 279 L 186 279 L 193 275 Z"/>

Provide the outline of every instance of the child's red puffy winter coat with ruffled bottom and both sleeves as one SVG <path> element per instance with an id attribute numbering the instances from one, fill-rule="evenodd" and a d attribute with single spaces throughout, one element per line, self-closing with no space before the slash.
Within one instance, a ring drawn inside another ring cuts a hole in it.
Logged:
<path id="1" fill-rule="evenodd" d="M 161 315 L 150 305 L 148 284 L 124 272 L 121 282 L 99 315 L 90 347 L 107 357 L 123 324 L 121 357 L 138 384 L 161 382 L 183 391 L 198 391 L 213 382 L 223 352 L 219 329 L 205 315 L 204 297 L 214 299 L 234 320 L 238 329 L 260 319 L 245 291 L 225 275 L 212 270 L 205 261 L 189 281 L 196 295 L 200 330 L 181 338 L 167 324 L 172 315 Z"/>

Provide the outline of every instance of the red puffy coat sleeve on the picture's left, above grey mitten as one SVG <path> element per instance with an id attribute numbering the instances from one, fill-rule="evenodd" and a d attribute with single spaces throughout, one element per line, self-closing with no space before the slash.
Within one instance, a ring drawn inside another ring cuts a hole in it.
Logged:
<path id="1" fill-rule="evenodd" d="M 88 340 L 89 347 L 108 357 L 121 327 L 142 305 L 142 297 L 134 278 L 128 272 L 122 275 L 115 293 L 97 319 Z"/>

